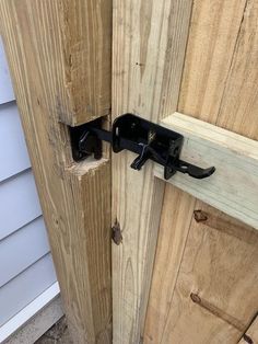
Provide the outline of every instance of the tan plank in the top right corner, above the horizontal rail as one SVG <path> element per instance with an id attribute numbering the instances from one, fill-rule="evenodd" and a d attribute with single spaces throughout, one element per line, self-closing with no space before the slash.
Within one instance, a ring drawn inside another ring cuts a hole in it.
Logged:
<path id="1" fill-rule="evenodd" d="M 258 140 L 258 2 L 247 1 L 216 125 Z"/>

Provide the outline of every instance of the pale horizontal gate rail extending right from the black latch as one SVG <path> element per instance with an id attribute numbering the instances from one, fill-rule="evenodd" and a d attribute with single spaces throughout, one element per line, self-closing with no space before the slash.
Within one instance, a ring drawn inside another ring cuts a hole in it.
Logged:
<path id="1" fill-rule="evenodd" d="M 258 142 L 180 113 L 161 124 L 184 135 L 183 160 L 216 168 L 206 180 L 176 173 L 168 182 L 258 229 Z M 163 179 L 163 169 L 154 174 Z"/>

